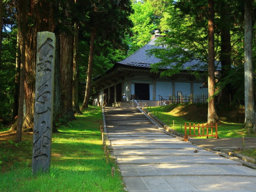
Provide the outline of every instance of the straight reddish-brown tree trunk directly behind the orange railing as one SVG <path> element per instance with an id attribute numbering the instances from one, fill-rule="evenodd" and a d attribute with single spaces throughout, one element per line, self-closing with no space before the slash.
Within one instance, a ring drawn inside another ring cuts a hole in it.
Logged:
<path id="1" fill-rule="evenodd" d="M 214 94 L 214 0 L 208 0 L 208 123 L 216 123 L 218 116 L 216 114 Z"/>

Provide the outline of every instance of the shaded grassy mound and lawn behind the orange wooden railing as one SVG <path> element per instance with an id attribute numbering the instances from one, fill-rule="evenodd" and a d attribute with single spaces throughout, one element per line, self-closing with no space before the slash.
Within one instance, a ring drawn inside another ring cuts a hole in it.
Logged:
<path id="1" fill-rule="evenodd" d="M 207 104 L 172 104 L 168 106 L 149 107 L 149 112 L 162 120 L 173 130 L 185 134 L 184 124 L 207 123 Z M 157 116 L 158 112 L 158 116 Z M 218 136 L 220 138 L 248 137 L 248 129 L 243 127 L 243 108 L 231 106 L 217 106 L 217 113 L 220 118 L 218 122 Z M 164 119 L 163 119 L 164 115 Z M 168 123 L 169 118 L 169 123 Z M 174 126 L 173 126 L 174 121 Z M 182 131 L 181 131 L 182 126 Z M 196 129 L 197 130 L 197 129 Z M 250 130 L 250 137 L 256 137 L 256 133 Z M 205 137 L 193 137 L 205 138 Z M 209 137 L 210 138 L 210 137 Z"/>

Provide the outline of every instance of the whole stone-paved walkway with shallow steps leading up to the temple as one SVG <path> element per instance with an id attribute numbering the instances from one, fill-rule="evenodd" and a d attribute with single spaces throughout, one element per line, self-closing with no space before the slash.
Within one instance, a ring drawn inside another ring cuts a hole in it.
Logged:
<path id="1" fill-rule="evenodd" d="M 256 170 L 161 132 L 137 108 L 104 108 L 129 192 L 256 191 Z"/>

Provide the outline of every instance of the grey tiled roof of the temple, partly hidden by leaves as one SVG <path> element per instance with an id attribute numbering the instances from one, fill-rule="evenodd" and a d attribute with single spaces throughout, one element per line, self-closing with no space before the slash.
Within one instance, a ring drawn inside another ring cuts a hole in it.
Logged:
<path id="1" fill-rule="evenodd" d="M 156 39 L 156 37 L 153 38 L 151 41 L 148 42 L 148 44 L 141 47 L 138 51 L 134 52 L 126 59 L 119 61 L 117 63 L 128 66 L 150 68 L 151 64 L 160 62 L 161 59 L 156 58 L 154 55 L 148 54 L 148 51 L 151 49 L 166 49 L 166 46 L 156 46 Z M 215 64 L 217 65 L 218 61 L 215 61 Z M 172 68 L 172 65 L 175 65 L 175 63 L 171 64 L 168 67 L 165 67 L 164 69 L 170 69 Z M 186 70 L 186 68 L 188 67 L 191 67 L 190 70 L 207 70 L 207 67 L 205 68 L 205 66 L 207 66 L 207 63 L 205 63 L 204 61 L 200 61 L 199 59 L 188 61 L 184 63 L 182 66 L 184 70 Z"/>

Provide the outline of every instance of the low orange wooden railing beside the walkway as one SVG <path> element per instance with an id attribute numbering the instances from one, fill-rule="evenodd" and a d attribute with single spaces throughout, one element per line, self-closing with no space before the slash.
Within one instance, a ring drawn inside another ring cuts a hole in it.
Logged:
<path id="1" fill-rule="evenodd" d="M 187 134 L 187 128 L 189 128 L 189 134 Z M 194 134 L 191 134 L 191 128 L 194 131 Z M 201 128 L 202 128 L 202 132 L 201 132 Z M 206 128 L 206 134 L 204 129 Z M 209 134 L 209 128 L 211 128 L 211 133 Z M 197 129 L 197 130 L 196 130 Z M 215 134 L 213 134 L 213 132 L 215 132 Z M 206 126 L 204 124 L 202 124 L 202 126 L 200 126 L 200 124 L 198 124 L 197 126 L 194 124 L 193 126 L 191 126 L 191 124 L 189 124 L 189 126 L 187 126 L 187 123 L 185 123 L 185 136 L 184 136 L 184 141 L 188 141 L 188 137 L 214 137 L 216 139 L 218 139 L 218 127 L 217 127 L 217 123 L 214 125 L 208 125 L 208 123 L 206 124 Z"/>

